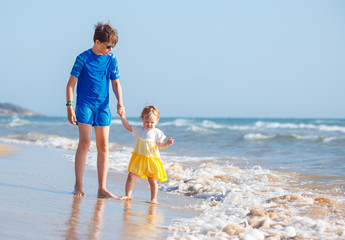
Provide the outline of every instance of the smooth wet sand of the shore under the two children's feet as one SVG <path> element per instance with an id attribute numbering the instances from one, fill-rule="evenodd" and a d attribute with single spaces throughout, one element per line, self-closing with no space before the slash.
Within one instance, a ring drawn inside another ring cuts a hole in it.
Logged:
<path id="1" fill-rule="evenodd" d="M 59 150 L 1 144 L 0 156 L 1 239 L 165 239 L 174 219 L 199 215 L 189 206 L 200 200 L 188 197 L 160 191 L 159 205 L 145 203 L 144 180 L 132 202 L 99 199 L 96 171 L 88 167 L 87 196 L 74 197 L 74 165 Z M 121 196 L 125 180 L 110 171 L 108 189 Z"/>

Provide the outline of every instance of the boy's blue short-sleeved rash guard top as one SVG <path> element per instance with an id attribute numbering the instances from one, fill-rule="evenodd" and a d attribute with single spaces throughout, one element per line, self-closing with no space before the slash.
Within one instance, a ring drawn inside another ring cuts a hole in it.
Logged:
<path id="1" fill-rule="evenodd" d="M 114 54 L 96 55 L 91 49 L 77 57 L 71 75 L 78 78 L 77 105 L 90 108 L 107 108 L 109 82 L 120 78 Z"/>

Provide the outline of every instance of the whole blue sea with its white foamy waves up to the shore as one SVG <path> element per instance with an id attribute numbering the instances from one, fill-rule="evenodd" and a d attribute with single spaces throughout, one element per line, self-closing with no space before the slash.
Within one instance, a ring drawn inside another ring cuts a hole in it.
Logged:
<path id="1" fill-rule="evenodd" d="M 128 118 L 141 125 L 139 118 Z M 163 191 L 203 199 L 176 219 L 171 239 L 345 239 L 345 119 L 161 118 L 174 145 L 161 155 Z M 0 140 L 67 152 L 78 129 L 65 117 L 0 117 Z M 135 139 L 118 118 L 110 171 L 126 172 Z M 96 169 L 94 134 L 87 165 Z"/>

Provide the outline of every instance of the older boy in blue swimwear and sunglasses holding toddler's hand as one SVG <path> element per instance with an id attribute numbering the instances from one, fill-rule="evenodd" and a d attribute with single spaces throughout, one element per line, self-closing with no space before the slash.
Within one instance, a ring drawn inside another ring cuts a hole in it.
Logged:
<path id="1" fill-rule="evenodd" d="M 108 172 L 108 141 L 111 124 L 109 83 L 117 99 L 117 113 L 124 114 L 122 88 L 116 57 L 111 53 L 118 41 L 117 30 L 109 23 L 98 23 L 91 49 L 81 53 L 72 68 L 66 87 L 68 121 L 78 125 L 79 144 L 75 155 L 74 195 L 85 196 L 83 174 L 86 154 L 94 127 L 97 146 L 98 197 L 117 198 L 106 189 Z M 111 80 L 111 81 L 110 81 Z M 73 111 L 74 86 L 77 84 L 77 104 Z"/>

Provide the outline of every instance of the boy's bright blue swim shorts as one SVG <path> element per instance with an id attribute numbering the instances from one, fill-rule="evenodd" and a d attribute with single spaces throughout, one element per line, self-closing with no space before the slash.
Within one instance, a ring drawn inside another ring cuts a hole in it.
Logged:
<path id="1" fill-rule="evenodd" d="M 111 124 L 111 112 L 107 108 L 90 108 L 85 106 L 76 106 L 75 114 L 77 122 L 89 124 L 94 127 L 106 127 Z"/>

